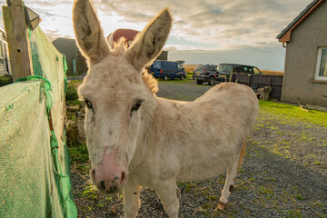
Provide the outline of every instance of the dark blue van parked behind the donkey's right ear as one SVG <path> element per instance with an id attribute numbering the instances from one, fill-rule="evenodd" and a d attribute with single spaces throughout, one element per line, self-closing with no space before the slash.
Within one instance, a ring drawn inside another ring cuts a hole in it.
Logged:
<path id="1" fill-rule="evenodd" d="M 178 62 L 155 60 L 149 68 L 149 74 L 153 74 L 155 78 L 162 78 L 167 81 L 168 78 L 185 79 L 186 73 L 183 64 Z"/>

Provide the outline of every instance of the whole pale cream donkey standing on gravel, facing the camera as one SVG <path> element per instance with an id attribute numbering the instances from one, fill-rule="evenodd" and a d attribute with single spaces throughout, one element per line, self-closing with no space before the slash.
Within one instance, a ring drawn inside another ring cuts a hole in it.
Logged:
<path id="1" fill-rule="evenodd" d="M 90 0 L 75 0 L 73 13 L 77 44 L 89 65 L 78 92 L 87 107 L 86 144 L 96 188 L 102 193 L 124 189 L 125 217 L 138 213 L 141 186 L 154 189 L 169 217 L 176 218 L 176 182 L 227 171 L 218 204 L 223 210 L 259 112 L 253 90 L 225 83 L 193 102 L 157 97 L 157 81 L 144 67 L 169 35 L 169 10 L 163 9 L 132 45 L 123 38 L 114 48 Z"/>

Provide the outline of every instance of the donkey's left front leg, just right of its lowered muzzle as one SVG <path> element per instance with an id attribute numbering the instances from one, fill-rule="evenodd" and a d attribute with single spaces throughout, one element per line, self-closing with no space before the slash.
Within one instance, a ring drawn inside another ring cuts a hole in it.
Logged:
<path id="1" fill-rule="evenodd" d="M 124 185 L 124 217 L 134 218 L 140 208 L 141 186 L 131 179 Z"/>

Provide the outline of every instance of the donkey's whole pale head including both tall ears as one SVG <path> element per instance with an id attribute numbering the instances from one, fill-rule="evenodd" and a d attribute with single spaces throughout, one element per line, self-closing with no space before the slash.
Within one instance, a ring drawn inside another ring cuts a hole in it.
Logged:
<path id="1" fill-rule="evenodd" d="M 99 190 L 115 193 L 127 181 L 143 107 L 153 96 L 154 87 L 144 83 L 148 81 L 144 66 L 160 54 L 172 18 L 163 10 L 130 47 L 122 39 L 112 50 L 92 2 L 75 0 L 73 13 L 77 44 L 89 65 L 79 94 L 87 106 L 85 132 L 93 166 L 91 178 Z"/>

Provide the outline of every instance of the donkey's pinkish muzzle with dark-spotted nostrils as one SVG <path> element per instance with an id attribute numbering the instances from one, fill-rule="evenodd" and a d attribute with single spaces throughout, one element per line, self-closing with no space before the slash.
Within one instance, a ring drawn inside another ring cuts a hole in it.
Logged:
<path id="1" fill-rule="evenodd" d="M 117 193 L 127 181 L 128 171 L 124 166 L 116 164 L 115 154 L 116 149 L 110 154 L 105 149 L 102 161 L 91 169 L 91 179 L 103 193 Z"/>

